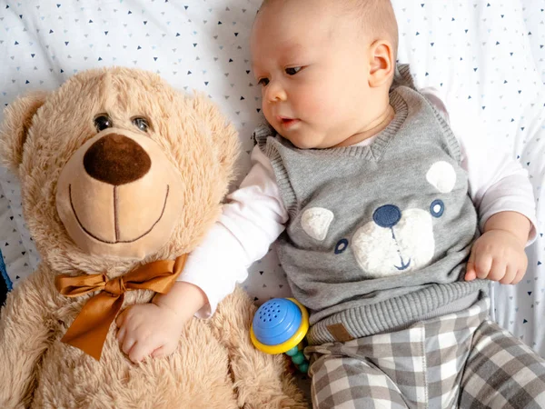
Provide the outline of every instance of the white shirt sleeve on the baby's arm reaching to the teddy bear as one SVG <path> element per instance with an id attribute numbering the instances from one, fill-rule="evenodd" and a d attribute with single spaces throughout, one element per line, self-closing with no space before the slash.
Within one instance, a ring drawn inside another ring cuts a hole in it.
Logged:
<path id="1" fill-rule="evenodd" d="M 239 189 L 227 196 L 219 221 L 189 255 L 178 281 L 200 287 L 208 304 L 195 316 L 210 317 L 217 304 L 248 276 L 248 267 L 267 254 L 282 234 L 288 212 L 272 165 L 258 146 Z"/>

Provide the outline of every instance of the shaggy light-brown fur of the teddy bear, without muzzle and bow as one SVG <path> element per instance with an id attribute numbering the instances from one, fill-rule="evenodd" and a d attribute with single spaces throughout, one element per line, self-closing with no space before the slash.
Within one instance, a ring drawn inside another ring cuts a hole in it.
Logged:
<path id="1" fill-rule="evenodd" d="M 67 234 L 55 207 L 59 175 L 74 152 L 97 134 L 94 116 L 133 132 L 131 118 L 152 125 L 181 177 L 183 206 L 166 243 L 144 260 L 85 254 Z M 101 360 L 60 338 L 93 294 L 66 298 L 55 274 L 110 278 L 134 266 L 191 252 L 220 213 L 233 177 L 238 140 L 233 125 L 203 95 L 180 95 L 154 74 L 126 68 L 93 70 L 51 94 L 29 95 L 6 109 L 0 157 L 19 176 L 26 223 L 42 255 L 35 274 L 8 295 L 0 313 L 1 408 L 276 408 L 306 407 L 282 356 L 253 348 L 253 304 L 242 290 L 210 320 L 187 324 L 177 351 L 132 364 L 110 328 Z M 221 274 L 221 272 L 218 272 Z M 124 307 L 147 303 L 149 291 L 125 294 Z"/>

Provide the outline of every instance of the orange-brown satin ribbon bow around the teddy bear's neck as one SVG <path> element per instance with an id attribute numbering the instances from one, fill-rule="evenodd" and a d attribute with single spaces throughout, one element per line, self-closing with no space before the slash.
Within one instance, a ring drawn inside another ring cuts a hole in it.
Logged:
<path id="1" fill-rule="evenodd" d="M 130 273 L 108 280 L 106 274 L 57 275 L 54 284 L 67 297 L 77 297 L 102 290 L 84 304 L 61 342 L 75 346 L 97 361 L 106 335 L 119 313 L 126 290 L 152 290 L 166 294 L 183 270 L 187 254 L 176 260 L 161 260 L 142 265 Z"/>

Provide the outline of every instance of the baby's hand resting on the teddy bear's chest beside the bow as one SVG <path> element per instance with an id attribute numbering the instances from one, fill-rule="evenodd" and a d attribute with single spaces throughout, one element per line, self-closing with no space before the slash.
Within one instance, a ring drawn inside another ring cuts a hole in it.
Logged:
<path id="1" fill-rule="evenodd" d="M 165 306 L 137 304 L 119 314 L 117 340 L 134 363 L 145 357 L 172 354 L 178 345 L 186 319 Z"/>

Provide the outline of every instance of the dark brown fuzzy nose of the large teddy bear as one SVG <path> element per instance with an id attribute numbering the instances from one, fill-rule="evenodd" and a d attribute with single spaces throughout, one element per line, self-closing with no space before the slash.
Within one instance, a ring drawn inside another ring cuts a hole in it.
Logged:
<path id="1" fill-rule="evenodd" d="M 109 134 L 96 141 L 84 155 L 88 175 L 110 185 L 125 185 L 140 179 L 152 167 L 152 160 L 133 139 Z"/>

